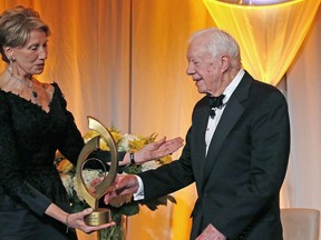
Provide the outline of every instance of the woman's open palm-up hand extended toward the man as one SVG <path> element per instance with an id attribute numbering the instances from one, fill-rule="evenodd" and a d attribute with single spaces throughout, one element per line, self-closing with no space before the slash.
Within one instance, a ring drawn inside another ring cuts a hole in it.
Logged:
<path id="1" fill-rule="evenodd" d="M 158 141 L 146 144 L 142 150 L 135 152 L 135 161 L 137 163 L 143 163 L 145 161 L 162 158 L 166 154 L 172 154 L 183 146 L 183 142 L 184 140 L 179 137 L 171 140 L 166 140 L 164 137 Z"/>

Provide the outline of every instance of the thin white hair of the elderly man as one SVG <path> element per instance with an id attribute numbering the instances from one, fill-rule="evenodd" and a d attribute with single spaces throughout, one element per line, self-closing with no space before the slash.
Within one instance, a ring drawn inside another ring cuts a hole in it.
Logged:
<path id="1" fill-rule="evenodd" d="M 203 51 L 215 58 L 218 54 L 228 54 L 232 59 L 232 67 L 241 66 L 240 46 L 236 40 L 226 31 L 216 28 L 207 28 L 196 31 L 189 38 L 189 43 L 202 37 L 206 39 L 205 44 L 201 46 Z"/>

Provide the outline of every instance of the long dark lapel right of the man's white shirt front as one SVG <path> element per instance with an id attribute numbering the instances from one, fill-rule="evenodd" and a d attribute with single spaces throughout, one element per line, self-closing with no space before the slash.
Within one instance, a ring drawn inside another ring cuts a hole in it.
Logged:
<path id="1" fill-rule="evenodd" d="M 210 173 L 212 172 L 212 168 L 214 163 L 217 161 L 217 154 L 222 149 L 225 139 L 228 133 L 244 112 L 244 107 L 242 102 L 249 98 L 250 86 L 252 83 L 252 79 L 247 72 L 245 72 L 243 79 L 240 84 L 228 99 L 228 102 L 224 109 L 224 112 L 220 119 L 217 128 L 213 134 L 208 152 L 205 159 L 205 164 L 203 168 L 203 183 L 206 182 Z M 204 184 L 203 184 L 204 186 Z"/>

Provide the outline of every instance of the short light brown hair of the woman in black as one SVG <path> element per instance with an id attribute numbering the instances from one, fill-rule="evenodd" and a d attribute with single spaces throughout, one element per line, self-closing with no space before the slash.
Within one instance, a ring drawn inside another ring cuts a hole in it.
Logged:
<path id="1" fill-rule="evenodd" d="M 42 30 L 47 37 L 50 36 L 49 26 L 30 8 L 17 6 L 0 14 L 0 51 L 3 61 L 9 62 L 3 47 L 26 46 L 32 30 Z"/>

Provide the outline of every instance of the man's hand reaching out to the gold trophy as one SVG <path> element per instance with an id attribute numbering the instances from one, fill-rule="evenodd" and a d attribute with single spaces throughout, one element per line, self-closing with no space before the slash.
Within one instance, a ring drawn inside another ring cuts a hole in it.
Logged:
<path id="1" fill-rule="evenodd" d="M 134 174 L 117 176 L 113 186 L 107 190 L 104 201 L 106 204 L 120 207 L 130 201 L 138 187 L 138 180 Z"/>

